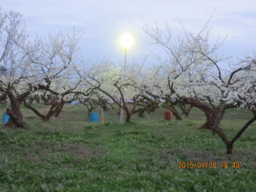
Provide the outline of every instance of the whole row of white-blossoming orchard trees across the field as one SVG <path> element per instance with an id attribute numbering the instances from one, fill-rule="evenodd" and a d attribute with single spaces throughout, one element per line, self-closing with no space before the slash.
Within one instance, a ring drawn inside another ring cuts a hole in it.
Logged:
<path id="1" fill-rule="evenodd" d="M 80 54 L 80 31 L 31 41 L 20 14 L 0 12 L 0 101 L 10 102 L 6 110 L 10 120 L 5 126 L 28 129 L 21 102 L 43 120 L 58 116 L 65 103 L 77 99 L 91 107 L 115 102 L 125 111 L 126 122 L 134 113 L 159 106 L 172 110 L 175 118 L 182 120 L 175 106 L 186 115 L 196 107 L 206 115 L 201 128 L 217 133 L 227 153 L 232 153 L 235 140 L 256 120 L 255 52 L 228 62 L 217 54 L 223 41 L 210 44 L 207 26 L 199 34 L 184 30 L 184 37 L 175 39 L 168 26 L 164 32 L 144 26 L 144 32 L 166 53 L 163 60 L 157 57 L 159 63 L 147 68 L 136 62 L 91 64 Z M 224 62 L 228 70 L 221 67 Z M 31 105 L 38 100 L 51 106 L 46 115 Z M 231 140 L 219 126 L 229 108 L 248 108 L 252 112 L 251 119 Z"/>

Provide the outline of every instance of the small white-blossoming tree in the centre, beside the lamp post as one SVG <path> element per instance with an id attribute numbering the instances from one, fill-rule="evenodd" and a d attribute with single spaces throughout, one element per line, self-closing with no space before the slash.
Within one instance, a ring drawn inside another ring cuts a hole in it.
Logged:
<path id="1" fill-rule="evenodd" d="M 123 108 L 124 115 L 126 115 L 125 121 L 130 122 L 130 118 L 142 98 L 141 95 L 145 91 L 143 88 L 143 66 L 139 66 L 135 62 L 119 66 L 105 62 L 104 68 L 107 70 L 97 76 L 97 81 L 100 84 L 97 89 L 107 95 L 110 101 Z"/>

